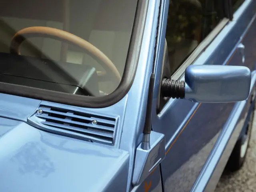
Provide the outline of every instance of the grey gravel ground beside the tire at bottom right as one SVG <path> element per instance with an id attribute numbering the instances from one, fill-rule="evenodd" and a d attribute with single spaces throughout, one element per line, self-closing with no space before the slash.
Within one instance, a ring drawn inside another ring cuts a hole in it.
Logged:
<path id="1" fill-rule="evenodd" d="M 235 173 L 224 172 L 215 192 L 256 192 L 256 115 L 242 169 Z"/>

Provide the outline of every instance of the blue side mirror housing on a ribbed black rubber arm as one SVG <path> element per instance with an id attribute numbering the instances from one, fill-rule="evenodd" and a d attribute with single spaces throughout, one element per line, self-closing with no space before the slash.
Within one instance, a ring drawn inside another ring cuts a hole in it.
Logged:
<path id="1" fill-rule="evenodd" d="M 185 98 L 193 102 L 238 102 L 246 100 L 249 95 L 251 72 L 245 66 L 191 65 L 186 68 L 185 83 L 170 81 L 175 82 L 169 86 L 172 98 Z M 165 84 L 164 90 L 166 88 Z"/>

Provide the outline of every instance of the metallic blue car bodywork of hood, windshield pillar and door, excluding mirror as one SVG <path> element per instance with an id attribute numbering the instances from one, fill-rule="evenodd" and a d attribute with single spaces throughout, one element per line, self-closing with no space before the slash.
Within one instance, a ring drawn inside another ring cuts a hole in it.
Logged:
<path id="1" fill-rule="evenodd" d="M 130 80 L 128 91 L 117 102 L 110 101 L 97 108 L 72 106 L 40 96 L 27 96 L 22 90 L 4 91 L 4 85 L 0 85 L 0 191 L 214 190 L 254 109 L 252 93 L 256 74 L 252 72 L 250 94 L 244 101 L 198 103 L 171 98 L 159 110 L 169 0 L 139 2 L 144 7 L 138 16 L 141 25 L 137 26 L 141 45 L 134 50 L 138 54 L 137 67 L 130 69 L 136 70 L 136 74 Z M 223 22 L 190 64 L 247 66 L 253 71 L 255 17 L 256 2 L 245 0 L 232 20 Z M 244 55 L 238 48 L 241 44 Z M 181 66 L 172 78 L 184 80 L 185 69 Z M 135 159 L 143 137 L 152 71 L 155 73 L 152 142 L 162 142 L 159 153 L 152 158 L 154 161 L 161 156 L 161 163 L 138 182 L 144 173 L 136 168 L 146 162 L 137 166 Z M 51 120 L 64 113 L 71 117 L 90 114 L 90 117 L 81 116 L 96 120 L 95 126 L 99 128 L 104 123 L 110 125 L 112 136 L 101 135 L 94 138 L 94 142 L 77 132 L 59 132 L 59 125 L 44 122 L 48 117 L 42 116 L 40 109 L 42 113 L 56 114 Z"/>

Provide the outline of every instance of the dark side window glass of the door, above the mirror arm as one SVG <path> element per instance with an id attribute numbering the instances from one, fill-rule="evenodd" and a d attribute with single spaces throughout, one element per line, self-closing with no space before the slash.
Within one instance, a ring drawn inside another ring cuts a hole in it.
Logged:
<path id="1" fill-rule="evenodd" d="M 170 0 L 166 41 L 171 73 L 223 18 L 223 0 Z"/>

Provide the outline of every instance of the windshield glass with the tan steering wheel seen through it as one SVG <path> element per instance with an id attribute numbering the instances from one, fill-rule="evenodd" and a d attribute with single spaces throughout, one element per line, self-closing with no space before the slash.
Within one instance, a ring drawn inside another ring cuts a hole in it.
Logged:
<path id="1" fill-rule="evenodd" d="M 0 82 L 86 96 L 124 73 L 137 0 L 0 2 Z"/>

